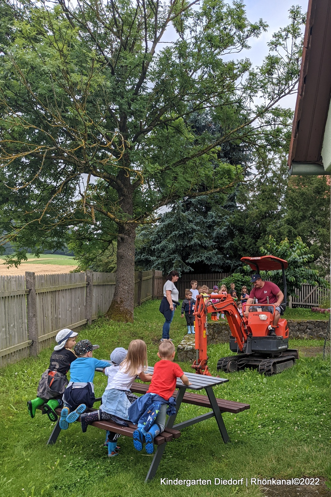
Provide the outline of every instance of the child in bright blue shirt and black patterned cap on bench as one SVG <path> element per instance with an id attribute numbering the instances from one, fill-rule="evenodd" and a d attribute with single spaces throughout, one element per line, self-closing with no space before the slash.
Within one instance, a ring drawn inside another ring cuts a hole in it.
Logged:
<path id="1" fill-rule="evenodd" d="M 64 408 L 60 416 L 60 428 L 68 429 L 69 423 L 77 421 L 87 408 L 93 407 L 94 396 L 94 373 L 96 368 L 106 368 L 109 362 L 101 361 L 92 357 L 93 350 L 99 345 L 92 345 L 89 340 L 81 340 L 75 346 L 78 355 L 77 363 L 70 369 L 70 382 L 64 391 Z M 72 412 L 70 412 L 72 411 Z M 70 414 L 69 414 L 70 413 Z"/>

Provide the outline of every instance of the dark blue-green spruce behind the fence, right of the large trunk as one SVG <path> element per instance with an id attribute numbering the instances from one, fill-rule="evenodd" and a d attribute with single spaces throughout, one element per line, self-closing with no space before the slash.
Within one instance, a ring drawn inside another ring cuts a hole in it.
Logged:
<path id="1" fill-rule="evenodd" d="M 178 272 L 231 271 L 241 266 L 231 250 L 228 201 L 224 197 L 188 200 L 162 215 L 156 226 L 137 232 L 136 263 L 145 269 Z"/>

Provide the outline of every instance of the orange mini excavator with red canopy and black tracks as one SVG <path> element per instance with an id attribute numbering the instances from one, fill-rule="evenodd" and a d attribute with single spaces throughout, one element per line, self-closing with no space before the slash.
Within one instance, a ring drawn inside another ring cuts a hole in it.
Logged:
<path id="1" fill-rule="evenodd" d="M 242 257 L 241 260 L 257 273 L 260 270 L 282 271 L 284 303 L 281 306 L 285 310 L 287 261 L 273 255 Z M 215 296 L 212 298 L 214 300 Z M 269 312 L 268 307 L 273 308 L 273 312 Z M 278 325 L 272 327 L 275 317 L 274 304 L 252 304 L 246 318 L 239 313 L 237 304 L 229 294 L 220 295 L 216 303 L 212 302 L 210 295 L 198 295 L 194 309 L 196 360 L 192 365 L 198 374 L 210 375 L 207 365 L 207 313 L 215 311 L 224 313 L 227 317 L 231 330 L 230 350 L 237 352 L 237 355 L 219 359 L 219 371 L 232 373 L 246 367 L 254 367 L 258 368 L 259 373 L 273 375 L 294 366 L 296 359 L 299 359 L 298 351 L 288 348 L 287 321 L 280 318 Z"/>

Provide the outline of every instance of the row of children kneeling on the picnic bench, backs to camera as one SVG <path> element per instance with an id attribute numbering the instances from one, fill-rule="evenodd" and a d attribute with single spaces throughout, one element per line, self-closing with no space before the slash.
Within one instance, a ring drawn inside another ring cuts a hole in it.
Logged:
<path id="1" fill-rule="evenodd" d="M 97 420 L 111 420 L 128 426 L 127 421 L 137 423 L 133 433 L 133 445 L 141 451 L 145 443 L 147 454 L 154 452 L 154 438 L 165 428 L 165 416 L 175 413 L 175 400 L 172 395 L 176 380 L 180 378 L 184 385 L 191 385 L 178 364 L 173 362 L 175 347 L 171 340 L 164 340 L 159 345 L 158 357 L 153 375 L 147 370 L 147 346 L 143 340 L 132 340 L 128 350 L 115 348 L 109 361 L 93 357 L 89 340 L 76 344 L 78 333 L 65 329 L 56 336 L 57 345 L 51 355 L 50 367 L 39 382 L 37 397 L 27 402 L 28 413 L 33 418 L 40 407 L 51 421 L 58 416 L 55 409 L 62 406 L 59 425 L 68 429 L 70 423 L 81 416 L 82 431 L 88 424 Z M 86 412 L 92 408 L 95 397 L 93 379 L 96 368 L 102 369 L 107 376 L 107 386 L 102 395 L 98 410 Z M 70 381 L 67 373 L 70 369 Z M 147 394 L 142 397 L 134 395 L 130 388 L 139 377 L 143 382 L 151 383 Z M 104 445 L 108 456 L 118 455 L 120 447 L 118 433 L 107 431 Z"/>

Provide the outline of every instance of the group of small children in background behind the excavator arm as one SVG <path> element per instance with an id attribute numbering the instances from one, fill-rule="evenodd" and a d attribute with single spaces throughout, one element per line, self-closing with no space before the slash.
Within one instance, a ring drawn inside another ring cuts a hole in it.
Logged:
<path id="1" fill-rule="evenodd" d="M 217 285 L 213 287 L 213 291 L 209 293 L 209 288 L 207 285 L 202 285 L 198 286 L 198 282 L 196 280 L 191 281 L 191 289 L 190 290 L 185 290 L 185 298 L 183 300 L 182 306 L 181 306 L 181 318 L 185 316 L 186 319 L 186 326 L 187 326 L 187 333 L 195 333 L 194 331 L 194 305 L 196 302 L 196 297 L 197 295 L 211 295 L 212 297 L 216 295 L 227 295 L 228 290 L 225 285 L 222 285 L 221 288 L 219 289 Z M 240 295 L 240 301 L 238 302 L 238 297 L 237 297 L 237 291 L 235 288 L 235 283 L 230 283 L 230 291 L 229 294 L 233 298 L 234 302 L 236 302 L 240 314 L 243 313 L 242 311 L 242 306 L 243 304 L 246 304 L 247 299 L 248 299 L 248 293 L 247 293 L 247 287 L 244 285 L 242 287 L 241 295 Z M 217 298 L 212 298 L 212 302 L 215 304 L 216 302 L 219 302 Z M 225 319 L 224 314 L 218 313 L 218 312 L 213 312 L 211 315 L 211 320 L 212 321 L 219 321 L 221 316 L 221 319 Z"/>

